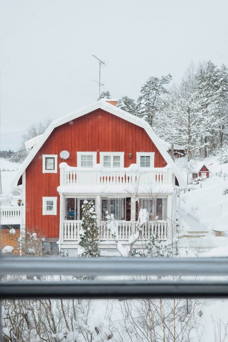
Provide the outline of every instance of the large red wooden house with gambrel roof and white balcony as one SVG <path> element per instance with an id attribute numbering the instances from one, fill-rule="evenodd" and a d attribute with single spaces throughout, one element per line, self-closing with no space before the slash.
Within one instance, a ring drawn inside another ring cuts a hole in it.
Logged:
<path id="1" fill-rule="evenodd" d="M 22 184 L 23 225 L 41 229 L 45 248 L 55 249 L 59 240 L 59 248 L 74 255 L 84 199 L 96 205 L 104 249 L 114 248 L 107 210 L 119 221 L 122 241 L 137 229 L 141 207 L 149 212 L 144 239 L 153 229 L 166 239 L 175 221 L 178 192 L 185 187 L 180 172 L 145 120 L 107 101 L 53 121 L 12 181 Z M 63 153 L 62 159 L 61 151 L 69 157 Z"/>

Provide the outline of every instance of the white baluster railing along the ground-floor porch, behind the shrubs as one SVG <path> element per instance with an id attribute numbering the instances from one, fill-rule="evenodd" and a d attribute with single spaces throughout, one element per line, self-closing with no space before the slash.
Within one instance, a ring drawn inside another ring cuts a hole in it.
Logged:
<path id="1" fill-rule="evenodd" d="M 78 241 L 80 237 L 81 221 L 64 221 L 63 222 L 63 232 L 62 241 Z M 114 241 L 114 236 L 112 235 L 110 229 L 107 228 L 107 222 L 102 222 L 99 225 L 100 229 L 100 241 Z M 167 222 L 148 222 L 142 226 L 139 239 L 149 240 L 150 237 L 155 234 L 159 239 L 167 239 Z M 119 240 L 128 241 L 132 234 L 138 231 L 136 222 L 120 222 L 118 226 Z"/>

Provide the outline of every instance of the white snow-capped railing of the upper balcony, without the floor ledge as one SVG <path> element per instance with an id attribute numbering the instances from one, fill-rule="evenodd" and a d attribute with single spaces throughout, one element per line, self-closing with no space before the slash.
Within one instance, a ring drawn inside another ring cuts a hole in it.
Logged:
<path id="1" fill-rule="evenodd" d="M 61 185 L 171 185 L 172 171 L 165 168 L 142 170 L 136 164 L 129 168 L 107 169 L 97 164 L 94 168 L 74 168 L 66 163 L 60 164 Z"/>

